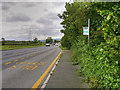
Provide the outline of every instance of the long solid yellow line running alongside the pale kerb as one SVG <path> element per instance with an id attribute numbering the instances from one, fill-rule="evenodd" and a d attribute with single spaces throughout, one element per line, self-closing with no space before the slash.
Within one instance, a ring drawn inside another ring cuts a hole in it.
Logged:
<path id="1" fill-rule="evenodd" d="M 45 76 L 47 75 L 47 73 L 50 71 L 50 69 L 52 68 L 52 66 L 55 64 L 55 62 L 57 61 L 58 57 L 60 56 L 61 52 L 59 53 L 59 55 L 55 58 L 55 60 L 52 62 L 52 64 L 47 68 L 47 70 L 42 74 L 42 76 L 35 82 L 35 84 L 33 85 L 33 87 L 31 88 L 31 90 L 36 90 L 36 88 L 38 88 L 38 86 L 40 85 L 40 83 L 42 82 L 42 80 L 45 78 Z"/>

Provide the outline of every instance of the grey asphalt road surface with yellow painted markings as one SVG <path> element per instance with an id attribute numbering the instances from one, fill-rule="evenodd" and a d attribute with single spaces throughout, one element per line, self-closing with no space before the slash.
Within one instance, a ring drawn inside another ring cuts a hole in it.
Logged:
<path id="1" fill-rule="evenodd" d="M 32 88 L 60 51 L 57 46 L 2 51 L 2 88 Z"/>

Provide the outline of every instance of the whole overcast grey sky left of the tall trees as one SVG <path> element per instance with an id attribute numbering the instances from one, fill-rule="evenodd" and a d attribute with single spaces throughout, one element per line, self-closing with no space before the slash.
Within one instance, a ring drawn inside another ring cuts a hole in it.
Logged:
<path id="1" fill-rule="evenodd" d="M 61 38 L 62 20 L 57 14 L 63 11 L 65 2 L 2 2 L 2 37 L 6 40 Z"/>

